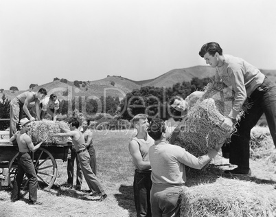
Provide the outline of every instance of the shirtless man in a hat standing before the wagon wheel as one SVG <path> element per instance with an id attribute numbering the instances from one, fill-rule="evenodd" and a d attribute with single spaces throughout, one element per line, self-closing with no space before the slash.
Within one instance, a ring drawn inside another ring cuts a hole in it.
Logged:
<path id="1" fill-rule="evenodd" d="M 17 131 L 11 138 L 10 141 L 16 139 L 19 146 L 19 156 L 17 157 L 18 161 L 18 170 L 16 178 L 14 179 L 14 187 L 12 190 L 12 202 L 18 201 L 21 198 L 20 187 L 23 181 L 24 174 L 26 174 L 29 179 L 29 204 L 30 205 L 41 205 L 42 203 L 37 200 L 37 176 L 36 170 L 34 169 L 34 163 L 32 162 L 32 157 L 30 151 L 35 152 L 41 147 L 43 141 L 34 146 L 32 139 L 27 132 L 30 131 L 31 121 L 24 117 L 20 120 L 22 129 Z"/>

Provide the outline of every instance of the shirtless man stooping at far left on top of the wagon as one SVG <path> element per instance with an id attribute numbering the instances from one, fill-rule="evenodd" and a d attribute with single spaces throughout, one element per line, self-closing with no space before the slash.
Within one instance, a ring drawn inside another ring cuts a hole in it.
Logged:
<path id="1" fill-rule="evenodd" d="M 26 91 L 24 93 L 21 93 L 20 95 L 16 96 L 10 102 L 10 137 L 14 135 L 17 128 L 19 128 L 19 120 L 23 117 L 23 111 L 29 117 L 30 121 L 34 121 L 34 117 L 30 114 L 29 109 L 27 109 L 27 106 L 31 102 L 35 102 L 36 104 L 36 117 L 39 120 L 40 119 L 40 109 L 39 109 L 39 103 L 43 98 L 45 98 L 45 95 L 47 95 L 47 91 L 44 88 L 41 88 L 38 90 L 37 93 L 34 93 L 32 91 Z"/>

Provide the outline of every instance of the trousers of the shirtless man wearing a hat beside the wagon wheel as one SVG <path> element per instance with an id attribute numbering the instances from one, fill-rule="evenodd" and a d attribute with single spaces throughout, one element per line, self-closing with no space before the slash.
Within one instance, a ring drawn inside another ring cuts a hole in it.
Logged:
<path id="1" fill-rule="evenodd" d="M 16 178 L 14 179 L 14 188 L 12 190 L 12 199 L 20 198 L 20 187 L 23 181 L 24 174 L 26 174 L 27 179 L 29 179 L 29 200 L 35 202 L 37 200 L 37 176 L 36 170 L 34 169 L 34 163 L 32 162 L 32 157 L 30 152 L 19 153 L 18 170 Z"/>

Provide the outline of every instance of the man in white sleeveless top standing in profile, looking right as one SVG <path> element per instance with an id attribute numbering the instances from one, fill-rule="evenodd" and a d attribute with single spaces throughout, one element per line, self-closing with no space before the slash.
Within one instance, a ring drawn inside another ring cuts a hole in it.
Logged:
<path id="1" fill-rule="evenodd" d="M 149 217 L 152 216 L 150 210 L 152 170 L 148 159 L 148 149 L 154 144 L 154 140 L 148 135 L 148 115 L 135 115 L 132 122 L 137 130 L 137 135 L 130 141 L 128 149 L 135 163 L 133 181 L 135 208 L 137 216 Z"/>

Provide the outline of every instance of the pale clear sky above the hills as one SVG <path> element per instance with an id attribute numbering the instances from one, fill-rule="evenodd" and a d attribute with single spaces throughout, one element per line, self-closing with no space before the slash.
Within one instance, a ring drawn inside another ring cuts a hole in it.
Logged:
<path id="1" fill-rule="evenodd" d="M 0 89 L 54 78 L 156 78 L 200 47 L 276 69 L 275 0 L 0 0 Z"/>

